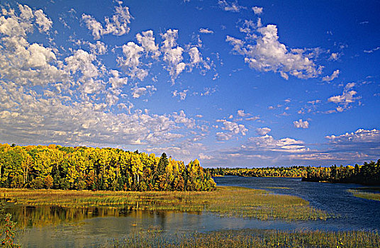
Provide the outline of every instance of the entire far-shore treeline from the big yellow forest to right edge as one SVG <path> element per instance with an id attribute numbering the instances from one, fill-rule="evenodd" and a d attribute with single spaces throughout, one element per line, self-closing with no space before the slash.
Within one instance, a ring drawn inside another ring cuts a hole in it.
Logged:
<path id="1" fill-rule="evenodd" d="M 380 159 L 377 162 L 364 162 L 354 167 L 267 167 L 267 168 L 211 168 L 206 169 L 211 176 L 277 176 L 302 177 L 303 181 L 327 181 L 331 183 L 379 184 Z"/>

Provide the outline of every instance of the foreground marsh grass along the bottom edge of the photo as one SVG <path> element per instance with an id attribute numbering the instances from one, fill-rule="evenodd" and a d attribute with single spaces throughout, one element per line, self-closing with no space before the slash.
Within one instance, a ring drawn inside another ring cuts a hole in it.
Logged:
<path id="1" fill-rule="evenodd" d="M 161 230 L 140 230 L 101 247 L 380 247 L 377 232 L 321 232 L 279 230 L 225 230 L 192 234 L 167 234 Z"/>

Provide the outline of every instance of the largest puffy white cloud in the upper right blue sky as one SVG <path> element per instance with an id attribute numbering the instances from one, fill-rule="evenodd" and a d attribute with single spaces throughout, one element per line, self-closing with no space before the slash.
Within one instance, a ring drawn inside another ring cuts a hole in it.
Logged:
<path id="1" fill-rule="evenodd" d="M 284 79 L 289 74 L 300 79 L 318 77 L 322 67 L 317 67 L 303 49 L 288 50 L 279 42 L 277 27 L 267 25 L 247 33 L 246 41 L 227 36 L 226 41 L 233 45 L 233 52 L 244 57 L 250 68 L 262 72 L 278 72 Z M 254 35 L 253 35 L 253 34 Z"/>

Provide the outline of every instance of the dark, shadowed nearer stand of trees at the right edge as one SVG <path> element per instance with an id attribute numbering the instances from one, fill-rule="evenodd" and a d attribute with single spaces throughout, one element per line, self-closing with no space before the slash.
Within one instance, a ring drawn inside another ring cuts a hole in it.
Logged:
<path id="1" fill-rule="evenodd" d="M 331 183 L 379 184 L 380 185 L 380 159 L 377 162 L 364 162 L 354 167 L 313 168 L 308 170 L 303 181 L 328 181 Z"/>

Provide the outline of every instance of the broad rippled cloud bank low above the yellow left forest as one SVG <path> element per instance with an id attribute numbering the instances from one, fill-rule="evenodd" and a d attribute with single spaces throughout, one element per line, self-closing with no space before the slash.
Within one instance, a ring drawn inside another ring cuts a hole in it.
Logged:
<path id="1" fill-rule="evenodd" d="M 175 130 L 192 125 L 182 113 L 174 113 L 174 117 L 139 110 L 130 114 L 112 113 L 105 109 L 104 103 L 40 96 L 30 89 L 2 81 L 0 96 L 0 142 L 22 136 L 25 144 L 155 144 L 183 137 L 174 133 Z"/>

